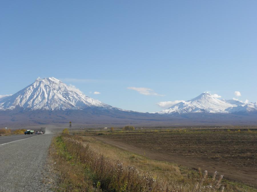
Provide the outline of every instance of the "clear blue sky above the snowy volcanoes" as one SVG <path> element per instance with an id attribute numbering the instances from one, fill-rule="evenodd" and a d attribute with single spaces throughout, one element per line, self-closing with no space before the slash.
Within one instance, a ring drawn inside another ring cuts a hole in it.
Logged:
<path id="1" fill-rule="evenodd" d="M 0 95 L 55 77 L 140 112 L 204 91 L 224 99 L 240 91 L 236 98 L 256 102 L 256 7 L 257 1 L 1 1 Z"/>

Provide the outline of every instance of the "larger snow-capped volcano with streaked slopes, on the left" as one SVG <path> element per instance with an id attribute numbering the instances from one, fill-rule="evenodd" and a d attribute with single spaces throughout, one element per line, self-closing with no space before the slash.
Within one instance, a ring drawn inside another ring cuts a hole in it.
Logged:
<path id="1" fill-rule="evenodd" d="M 67 86 L 54 77 L 37 79 L 31 85 L 1 101 L 0 110 L 83 110 L 112 108 Z"/>

